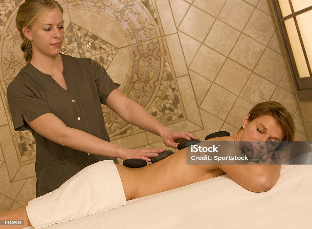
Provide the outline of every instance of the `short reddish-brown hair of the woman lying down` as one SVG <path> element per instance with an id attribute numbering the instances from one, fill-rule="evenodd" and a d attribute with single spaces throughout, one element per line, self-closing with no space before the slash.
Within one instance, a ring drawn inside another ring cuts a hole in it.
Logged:
<path id="1" fill-rule="evenodd" d="M 293 116 L 289 111 L 279 102 L 267 101 L 256 104 L 249 111 L 248 121 L 252 121 L 261 115 L 272 115 L 281 127 L 284 129 L 285 137 L 283 141 L 292 141 L 295 138 L 295 124 Z"/>

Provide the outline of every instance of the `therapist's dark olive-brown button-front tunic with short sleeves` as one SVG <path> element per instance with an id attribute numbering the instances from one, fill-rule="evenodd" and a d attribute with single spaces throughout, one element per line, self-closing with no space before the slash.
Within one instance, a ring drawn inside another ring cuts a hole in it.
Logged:
<path id="1" fill-rule="evenodd" d="M 7 88 L 7 100 L 14 129 L 30 130 L 23 120 L 53 113 L 68 127 L 88 132 L 109 141 L 101 104 L 119 85 L 113 83 L 105 69 L 91 59 L 62 55 L 63 76 L 68 91 L 51 77 L 27 64 Z M 32 130 L 36 140 L 36 196 L 60 187 L 65 181 L 88 165 L 116 158 L 88 155 L 85 152 L 59 145 Z M 98 176 L 90 174 L 90 176 Z"/>

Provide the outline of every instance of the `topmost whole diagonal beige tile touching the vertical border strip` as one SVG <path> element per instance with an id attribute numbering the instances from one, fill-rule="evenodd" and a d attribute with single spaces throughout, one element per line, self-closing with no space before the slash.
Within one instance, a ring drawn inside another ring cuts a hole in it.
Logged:
<path id="1" fill-rule="evenodd" d="M 215 18 L 209 14 L 191 6 L 178 29 L 188 34 L 190 37 L 203 42 L 214 20 Z"/>

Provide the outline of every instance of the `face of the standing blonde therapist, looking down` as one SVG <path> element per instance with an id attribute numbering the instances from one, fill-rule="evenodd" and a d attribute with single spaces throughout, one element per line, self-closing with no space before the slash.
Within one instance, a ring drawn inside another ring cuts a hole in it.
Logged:
<path id="1" fill-rule="evenodd" d="M 28 34 L 24 32 L 25 36 L 32 38 L 33 56 L 56 56 L 60 53 L 64 39 L 64 20 L 58 8 L 48 14 L 42 14 L 37 22 L 26 30 Z"/>

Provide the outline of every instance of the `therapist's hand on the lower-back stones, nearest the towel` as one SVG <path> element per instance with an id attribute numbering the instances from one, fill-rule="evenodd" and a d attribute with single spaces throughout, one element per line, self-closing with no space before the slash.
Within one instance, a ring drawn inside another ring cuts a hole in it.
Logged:
<path id="1" fill-rule="evenodd" d="M 143 149 L 124 149 L 122 156 L 120 158 L 122 160 L 137 158 L 143 159 L 146 161 L 151 161 L 150 157 L 157 157 L 158 153 L 162 153 L 166 148 L 143 148 Z"/>

